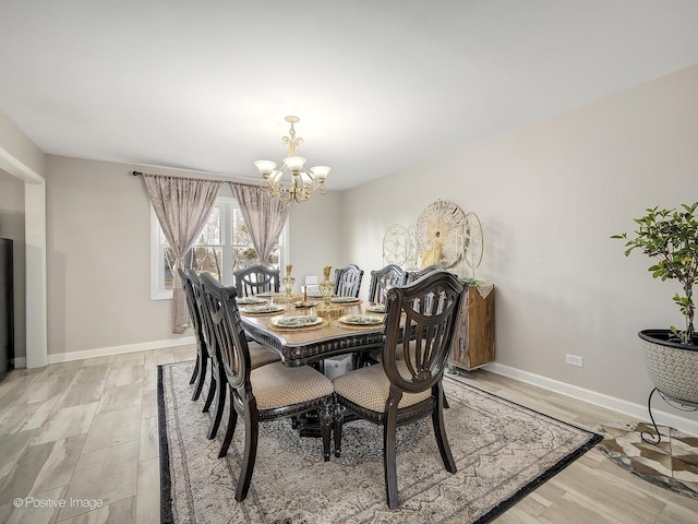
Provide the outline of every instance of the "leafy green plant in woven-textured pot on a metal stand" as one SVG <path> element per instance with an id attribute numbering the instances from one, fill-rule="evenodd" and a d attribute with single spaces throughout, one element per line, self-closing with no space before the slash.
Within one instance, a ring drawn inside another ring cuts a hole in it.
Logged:
<path id="1" fill-rule="evenodd" d="M 655 389 L 665 400 L 698 407 L 698 336 L 693 300 L 694 285 L 698 283 L 698 202 L 681 207 L 648 209 L 645 216 L 634 219 L 637 224 L 634 234 L 612 238 L 626 240 L 626 257 L 639 250 L 652 258 L 654 263 L 648 270 L 653 278 L 672 279 L 681 285 L 683 294 L 676 293 L 673 299 L 684 315 L 683 325 L 643 330 L 638 335 L 642 340 L 645 366 Z"/>

